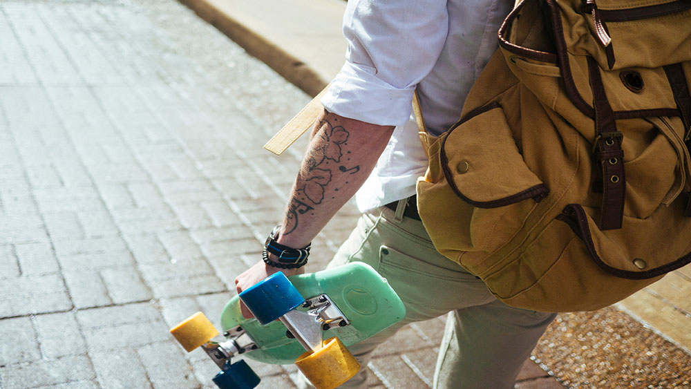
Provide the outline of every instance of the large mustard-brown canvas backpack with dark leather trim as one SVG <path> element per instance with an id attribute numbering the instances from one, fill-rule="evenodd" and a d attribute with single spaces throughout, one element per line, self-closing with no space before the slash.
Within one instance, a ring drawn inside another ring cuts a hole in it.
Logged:
<path id="1" fill-rule="evenodd" d="M 691 262 L 691 1 L 524 0 L 417 207 L 501 301 L 596 310 Z"/>

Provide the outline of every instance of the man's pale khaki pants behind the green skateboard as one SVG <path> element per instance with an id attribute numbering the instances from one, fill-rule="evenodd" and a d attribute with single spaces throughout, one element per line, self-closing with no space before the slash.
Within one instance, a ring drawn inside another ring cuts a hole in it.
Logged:
<path id="1" fill-rule="evenodd" d="M 388 279 L 406 305 L 405 319 L 350 346 L 350 351 L 367 366 L 377 345 L 404 325 L 448 313 L 434 387 L 513 388 L 523 362 L 556 314 L 498 301 L 480 279 L 439 254 L 422 222 L 399 216 L 400 208 L 394 212 L 381 207 L 361 216 L 328 266 L 368 263 Z M 367 370 L 341 388 L 363 386 Z"/>

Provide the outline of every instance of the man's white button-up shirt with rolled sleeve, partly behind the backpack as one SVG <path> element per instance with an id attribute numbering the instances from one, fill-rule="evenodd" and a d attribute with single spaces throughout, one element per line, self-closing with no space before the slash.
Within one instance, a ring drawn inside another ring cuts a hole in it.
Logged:
<path id="1" fill-rule="evenodd" d="M 396 126 L 356 195 L 361 211 L 415 194 L 427 160 L 411 117 L 417 86 L 427 129 L 448 130 L 498 46 L 511 0 L 349 0 L 345 64 L 321 103 L 328 111 Z"/>

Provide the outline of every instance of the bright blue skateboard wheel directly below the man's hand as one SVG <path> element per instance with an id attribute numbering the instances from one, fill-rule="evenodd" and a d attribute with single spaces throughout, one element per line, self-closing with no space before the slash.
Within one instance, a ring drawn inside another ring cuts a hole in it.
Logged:
<path id="1" fill-rule="evenodd" d="M 240 300 L 259 323 L 268 324 L 305 302 L 283 272 L 277 272 L 240 293 Z"/>

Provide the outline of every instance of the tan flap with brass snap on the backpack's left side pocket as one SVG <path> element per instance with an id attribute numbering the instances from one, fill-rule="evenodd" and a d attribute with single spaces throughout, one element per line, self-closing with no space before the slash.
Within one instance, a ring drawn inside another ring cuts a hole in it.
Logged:
<path id="1" fill-rule="evenodd" d="M 498 103 L 468 113 L 448 131 L 439 158 L 449 187 L 477 208 L 540 201 L 549 193 L 525 164 Z"/>

